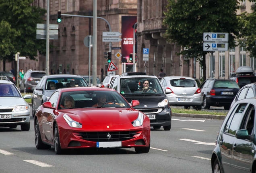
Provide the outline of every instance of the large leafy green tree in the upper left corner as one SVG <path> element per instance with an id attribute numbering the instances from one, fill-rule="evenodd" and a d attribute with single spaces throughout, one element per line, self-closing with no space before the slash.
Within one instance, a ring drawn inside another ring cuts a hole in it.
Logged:
<path id="1" fill-rule="evenodd" d="M 35 59 L 45 54 L 45 40 L 36 39 L 36 24 L 43 23 L 46 10 L 31 6 L 33 0 L 0 0 L 0 60 L 13 60 L 13 54 Z"/>

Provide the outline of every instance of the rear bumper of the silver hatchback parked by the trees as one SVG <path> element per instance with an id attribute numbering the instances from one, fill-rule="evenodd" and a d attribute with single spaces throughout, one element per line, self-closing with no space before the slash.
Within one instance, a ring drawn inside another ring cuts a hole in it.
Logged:
<path id="1" fill-rule="evenodd" d="M 202 96 L 184 97 L 174 94 L 167 95 L 169 105 L 173 106 L 200 106 L 202 105 Z M 179 101 L 179 99 L 189 99 L 189 101 Z"/>

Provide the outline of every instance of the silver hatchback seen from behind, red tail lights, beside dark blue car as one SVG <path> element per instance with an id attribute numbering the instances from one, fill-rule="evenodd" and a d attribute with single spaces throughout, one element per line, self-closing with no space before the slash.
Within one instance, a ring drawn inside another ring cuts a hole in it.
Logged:
<path id="1" fill-rule="evenodd" d="M 194 78 L 165 76 L 160 82 L 165 90 L 171 90 L 170 94 L 166 94 L 169 105 L 184 106 L 185 109 L 190 109 L 190 106 L 196 110 L 202 109 L 201 89 Z"/>

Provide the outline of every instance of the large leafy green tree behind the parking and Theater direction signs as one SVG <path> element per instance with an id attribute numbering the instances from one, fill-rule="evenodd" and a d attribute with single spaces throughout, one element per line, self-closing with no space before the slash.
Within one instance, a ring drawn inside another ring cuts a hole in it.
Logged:
<path id="1" fill-rule="evenodd" d="M 168 0 L 164 24 L 166 37 L 183 50 L 180 54 L 196 57 L 203 68 L 206 79 L 205 55 L 203 51 L 204 32 L 228 32 L 229 47 L 234 47 L 235 36 L 239 33 L 236 0 Z"/>

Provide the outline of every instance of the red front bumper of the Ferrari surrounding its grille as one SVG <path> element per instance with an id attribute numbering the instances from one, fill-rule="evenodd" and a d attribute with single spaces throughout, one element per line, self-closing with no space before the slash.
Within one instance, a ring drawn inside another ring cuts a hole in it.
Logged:
<path id="1" fill-rule="evenodd" d="M 145 123 L 146 124 L 146 123 Z M 102 127 L 102 126 L 101 126 Z M 104 126 L 103 128 L 97 127 L 101 130 L 95 129 L 94 131 L 88 131 L 82 129 L 76 129 L 72 128 L 66 125 L 66 123 L 59 123 L 59 134 L 60 134 L 60 146 L 62 149 L 75 149 L 75 148 L 88 148 L 88 147 L 97 147 L 97 141 L 103 141 L 103 142 L 113 142 L 118 141 L 118 139 L 107 139 L 107 135 L 109 134 L 111 136 L 114 136 L 116 132 L 126 132 L 126 131 L 136 131 L 136 135 L 132 137 L 132 139 L 129 140 L 122 140 L 122 148 L 130 148 L 130 147 L 149 147 L 150 145 L 150 127 L 149 124 L 145 127 L 144 123 L 142 127 L 140 128 L 134 128 L 134 129 L 110 129 L 106 128 Z M 105 129 L 104 129 L 105 128 Z M 87 128 L 86 128 L 87 129 Z M 88 129 L 91 129 L 89 127 Z M 92 140 L 86 140 L 83 137 L 87 135 L 87 133 L 93 133 L 93 132 L 99 132 L 99 133 L 106 133 L 106 135 L 103 135 L 105 139 L 97 139 L 96 136 L 91 136 Z"/>

